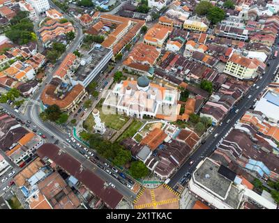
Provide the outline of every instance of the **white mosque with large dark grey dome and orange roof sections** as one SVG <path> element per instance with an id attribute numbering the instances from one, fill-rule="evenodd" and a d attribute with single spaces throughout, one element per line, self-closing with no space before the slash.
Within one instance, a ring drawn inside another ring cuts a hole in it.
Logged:
<path id="1" fill-rule="evenodd" d="M 177 115 L 178 91 L 150 83 L 147 77 L 125 80 L 107 94 L 103 106 L 115 108 L 127 116 L 155 118 L 158 114 Z M 165 113 L 167 112 L 167 113 Z"/>

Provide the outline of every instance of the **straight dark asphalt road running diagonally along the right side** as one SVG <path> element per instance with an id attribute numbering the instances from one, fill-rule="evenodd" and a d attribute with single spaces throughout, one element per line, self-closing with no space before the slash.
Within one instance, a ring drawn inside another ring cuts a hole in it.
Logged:
<path id="1" fill-rule="evenodd" d="M 276 47 L 273 49 L 273 52 L 279 47 L 277 47 L 278 38 L 276 39 Z M 241 100 L 238 102 L 238 104 L 235 106 L 236 109 L 239 109 L 239 112 L 236 114 L 234 112 L 229 112 L 227 116 L 225 116 L 223 120 L 223 125 L 219 125 L 216 127 L 215 130 L 209 135 L 209 137 L 206 139 L 206 142 L 199 146 L 195 153 L 191 155 L 190 159 L 186 160 L 186 162 L 180 167 L 178 171 L 172 176 L 170 179 L 168 185 L 170 187 L 174 187 L 176 183 L 179 182 L 179 180 L 186 174 L 187 172 L 190 172 L 191 174 L 193 171 L 195 171 L 195 167 L 201 160 L 204 159 L 204 157 L 208 157 L 213 153 L 213 151 L 216 149 L 216 145 L 218 142 L 225 136 L 225 134 L 229 131 L 230 128 L 233 128 L 236 121 L 243 116 L 243 114 L 246 113 L 246 111 L 255 103 L 254 100 L 257 98 L 257 96 L 262 93 L 264 88 L 269 85 L 269 83 L 272 82 L 273 79 L 273 72 L 276 70 L 276 66 L 279 64 L 279 57 L 276 59 L 271 59 L 270 66 L 266 67 L 266 74 L 262 76 L 262 79 L 258 79 L 257 86 L 259 86 L 259 89 L 256 89 L 256 86 L 253 88 L 251 87 L 248 90 L 248 93 L 241 98 Z M 251 98 L 248 98 L 248 95 L 251 95 Z M 227 123 L 228 120 L 231 120 L 229 123 Z M 214 137 L 215 134 L 218 134 L 218 137 Z M 190 165 L 190 161 L 193 160 L 193 164 Z"/>

